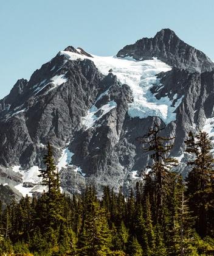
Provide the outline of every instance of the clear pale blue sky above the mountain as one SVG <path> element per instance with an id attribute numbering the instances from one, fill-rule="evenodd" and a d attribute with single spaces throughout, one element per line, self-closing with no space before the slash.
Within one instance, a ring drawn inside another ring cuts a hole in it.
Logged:
<path id="1" fill-rule="evenodd" d="M 214 60 L 213 0 L 1 0 L 0 98 L 68 45 L 114 55 L 170 28 Z"/>

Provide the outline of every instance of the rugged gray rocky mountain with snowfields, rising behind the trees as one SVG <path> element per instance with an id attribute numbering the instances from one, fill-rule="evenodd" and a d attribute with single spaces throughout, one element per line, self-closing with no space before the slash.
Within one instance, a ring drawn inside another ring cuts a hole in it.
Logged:
<path id="1" fill-rule="evenodd" d="M 189 130 L 213 136 L 213 62 L 170 29 L 99 57 L 68 46 L 20 79 L 0 101 L 0 179 L 23 195 L 38 177 L 48 141 L 66 193 L 93 183 L 127 191 L 148 165 L 136 137 L 154 123 L 174 136 L 183 163 Z"/>

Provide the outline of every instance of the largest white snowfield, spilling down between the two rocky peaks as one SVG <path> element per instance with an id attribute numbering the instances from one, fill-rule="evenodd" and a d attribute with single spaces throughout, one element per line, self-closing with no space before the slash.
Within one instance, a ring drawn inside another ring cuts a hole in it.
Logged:
<path id="1" fill-rule="evenodd" d="M 137 61 L 132 57 L 118 58 L 114 56 L 100 57 L 92 55 L 93 58 L 85 55 L 77 54 L 69 51 L 61 51 L 67 59 L 91 59 L 97 66 L 98 70 L 107 75 L 109 69 L 116 74 L 117 78 L 122 84 L 128 84 L 133 91 L 134 101 L 129 104 L 128 114 L 131 118 L 147 118 L 147 116 L 159 116 L 165 124 L 170 123 L 176 119 L 174 111 L 181 104 L 182 98 L 174 96 L 171 101 L 168 96 L 157 99 L 151 93 L 150 88 L 153 85 L 160 85 L 160 80 L 157 79 L 156 74 L 167 72 L 171 69 L 170 66 L 153 58 L 152 60 Z M 105 93 L 108 93 L 106 91 Z M 100 95 L 102 98 L 103 95 Z M 176 103 L 173 104 L 174 99 Z"/>

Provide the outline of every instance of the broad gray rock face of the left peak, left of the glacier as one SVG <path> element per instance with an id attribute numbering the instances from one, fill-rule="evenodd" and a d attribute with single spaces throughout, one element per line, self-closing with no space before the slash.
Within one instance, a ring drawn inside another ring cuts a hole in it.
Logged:
<path id="1" fill-rule="evenodd" d="M 64 86 L 52 90 L 51 77 L 60 75 L 65 76 Z M 57 148 L 63 148 L 80 129 L 81 116 L 97 94 L 115 81 L 114 76 L 98 73 L 94 63 L 87 59 L 67 62 L 63 55 L 57 55 L 43 65 L 33 73 L 19 96 L 15 97 L 12 90 L 0 101 L 2 165 L 40 165 L 47 141 L 55 146 L 55 154 L 60 154 Z M 5 102 L 9 108 L 5 108 Z"/>

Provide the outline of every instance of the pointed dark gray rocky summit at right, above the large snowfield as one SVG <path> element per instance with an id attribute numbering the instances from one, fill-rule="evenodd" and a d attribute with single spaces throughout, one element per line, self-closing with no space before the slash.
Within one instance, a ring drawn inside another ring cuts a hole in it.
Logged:
<path id="1" fill-rule="evenodd" d="M 188 69 L 191 72 L 212 71 L 213 62 L 203 52 L 184 43 L 172 30 L 162 29 L 154 38 L 142 38 L 134 44 L 126 45 L 117 57 L 131 56 L 136 60 L 153 57 L 170 66 Z"/>

